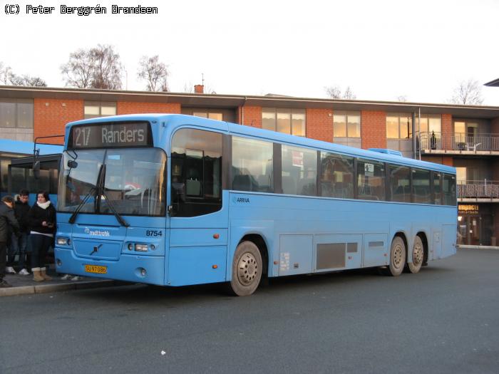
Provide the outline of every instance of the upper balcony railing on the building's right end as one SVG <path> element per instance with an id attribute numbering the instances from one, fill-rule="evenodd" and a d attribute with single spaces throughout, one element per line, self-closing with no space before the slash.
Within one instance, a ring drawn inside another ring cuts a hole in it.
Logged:
<path id="1" fill-rule="evenodd" d="M 499 151 L 499 134 L 466 136 L 421 133 L 420 146 L 421 150 Z"/>

